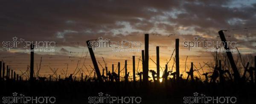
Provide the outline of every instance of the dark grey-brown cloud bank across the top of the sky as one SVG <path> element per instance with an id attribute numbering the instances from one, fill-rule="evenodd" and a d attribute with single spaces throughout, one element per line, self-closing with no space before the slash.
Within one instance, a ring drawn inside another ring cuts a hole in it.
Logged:
<path id="1" fill-rule="evenodd" d="M 133 32 L 175 34 L 189 31 L 215 35 L 220 29 L 255 25 L 256 4 L 233 7 L 216 0 L 3 0 L 0 2 L 1 41 L 85 41 L 100 35 Z M 128 26 L 128 27 L 127 27 Z M 179 27 L 189 27 L 180 30 Z"/>

